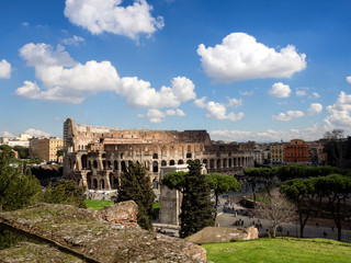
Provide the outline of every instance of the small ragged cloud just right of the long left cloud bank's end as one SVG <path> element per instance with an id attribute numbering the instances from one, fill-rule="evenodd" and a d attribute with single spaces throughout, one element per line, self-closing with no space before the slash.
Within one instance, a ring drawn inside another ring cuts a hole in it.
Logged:
<path id="1" fill-rule="evenodd" d="M 227 114 L 227 108 L 224 104 L 220 104 L 218 102 L 213 102 L 213 101 L 210 101 L 206 103 L 205 101 L 206 101 L 206 98 L 203 96 L 201 99 L 195 100 L 194 105 L 206 110 L 208 112 L 205 115 L 207 118 L 230 119 L 231 122 L 236 122 L 244 117 L 242 112 L 238 114 L 230 112 Z"/>

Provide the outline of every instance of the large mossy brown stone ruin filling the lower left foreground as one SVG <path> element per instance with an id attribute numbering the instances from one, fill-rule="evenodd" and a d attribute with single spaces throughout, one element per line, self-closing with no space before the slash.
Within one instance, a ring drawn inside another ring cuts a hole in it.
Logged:
<path id="1" fill-rule="evenodd" d="M 131 208 L 134 205 L 127 206 Z M 71 250 L 86 261 L 109 263 L 206 260 L 206 251 L 194 243 L 140 229 L 133 222 L 133 209 L 124 209 L 132 220 L 122 220 L 118 215 L 123 214 L 123 209 L 120 208 L 109 207 L 101 213 L 92 213 L 69 205 L 39 204 L 1 213 L 0 222 L 52 241 L 60 249 Z M 128 227 L 131 224 L 133 227 Z"/>

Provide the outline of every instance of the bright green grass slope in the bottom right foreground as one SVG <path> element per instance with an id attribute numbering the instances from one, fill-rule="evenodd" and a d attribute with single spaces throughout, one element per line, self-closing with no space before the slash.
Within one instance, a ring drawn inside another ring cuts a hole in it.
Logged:
<path id="1" fill-rule="evenodd" d="M 207 261 L 220 262 L 350 262 L 351 244 L 325 239 L 275 238 L 202 245 Z"/>

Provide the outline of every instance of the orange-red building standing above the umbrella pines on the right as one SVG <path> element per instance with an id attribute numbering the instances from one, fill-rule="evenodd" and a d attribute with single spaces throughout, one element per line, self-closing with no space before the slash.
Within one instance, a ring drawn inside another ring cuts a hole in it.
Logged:
<path id="1" fill-rule="evenodd" d="M 302 139 L 293 139 L 284 146 L 284 162 L 309 162 L 309 145 Z"/>

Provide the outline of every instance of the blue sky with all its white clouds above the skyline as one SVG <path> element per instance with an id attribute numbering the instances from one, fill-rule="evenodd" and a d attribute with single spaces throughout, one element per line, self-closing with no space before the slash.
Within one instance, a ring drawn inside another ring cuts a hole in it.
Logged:
<path id="1" fill-rule="evenodd" d="M 67 117 L 213 139 L 351 134 L 350 1 L 1 1 L 0 136 Z M 350 77 L 350 78 L 348 78 Z"/>

